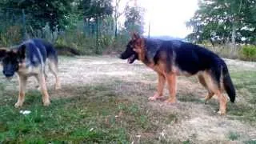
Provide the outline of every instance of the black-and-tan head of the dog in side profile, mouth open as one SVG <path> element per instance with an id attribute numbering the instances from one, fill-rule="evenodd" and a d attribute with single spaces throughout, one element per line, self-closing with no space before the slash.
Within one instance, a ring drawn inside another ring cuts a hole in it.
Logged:
<path id="1" fill-rule="evenodd" d="M 132 34 L 132 38 L 128 42 L 126 46 L 126 50 L 122 52 L 119 58 L 121 59 L 127 59 L 128 62 L 131 64 L 133 63 L 136 59 L 138 59 L 138 54 L 139 54 L 139 47 L 142 44 L 142 38 L 136 33 Z"/>

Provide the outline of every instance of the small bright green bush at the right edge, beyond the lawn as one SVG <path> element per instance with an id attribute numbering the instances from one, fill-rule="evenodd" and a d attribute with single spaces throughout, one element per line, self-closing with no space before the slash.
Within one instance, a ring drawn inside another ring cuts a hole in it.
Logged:
<path id="1" fill-rule="evenodd" d="M 256 46 L 246 45 L 242 46 L 242 50 L 239 51 L 240 58 L 246 61 L 256 61 Z"/>

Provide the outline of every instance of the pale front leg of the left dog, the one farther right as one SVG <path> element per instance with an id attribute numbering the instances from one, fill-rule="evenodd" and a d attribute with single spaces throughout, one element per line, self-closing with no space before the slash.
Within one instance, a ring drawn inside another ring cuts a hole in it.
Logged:
<path id="1" fill-rule="evenodd" d="M 45 75 L 43 73 L 40 73 L 36 76 L 36 78 L 38 79 L 38 83 L 39 83 L 39 86 L 41 88 L 43 105 L 44 106 L 49 106 L 50 105 L 50 98 L 49 98 L 49 94 L 48 94 L 47 87 L 46 87 Z"/>

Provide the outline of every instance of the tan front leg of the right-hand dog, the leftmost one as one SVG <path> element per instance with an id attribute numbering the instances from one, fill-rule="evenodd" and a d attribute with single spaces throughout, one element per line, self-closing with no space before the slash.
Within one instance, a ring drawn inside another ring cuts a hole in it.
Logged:
<path id="1" fill-rule="evenodd" d="M 162 98 L 162 92 L 163 92 L 165 83 L 166 83 L 166 77 L 163 74 L 158 73 L 158 91 L 156 94 L 154 94 L 153 97 L 150 97 L 149 100 L 154 101 L 159 98 Z"/>

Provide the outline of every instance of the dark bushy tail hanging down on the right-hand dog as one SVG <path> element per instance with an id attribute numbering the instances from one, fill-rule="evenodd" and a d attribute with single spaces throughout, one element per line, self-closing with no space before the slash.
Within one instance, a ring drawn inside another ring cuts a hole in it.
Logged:
<path id="1" fill-rule="evenodd" d="M 225 63 L 223 65 L 222 74 L 223 74 L 224 89 L 226 90 L 226 93 L 230 97 L 230 102 L 234 102 L 234 100 L 235 100 L 234 85 L 230 78 L 230 73 L 229 73 L 229 70 L 227 69 L 227 66 Z"/>

